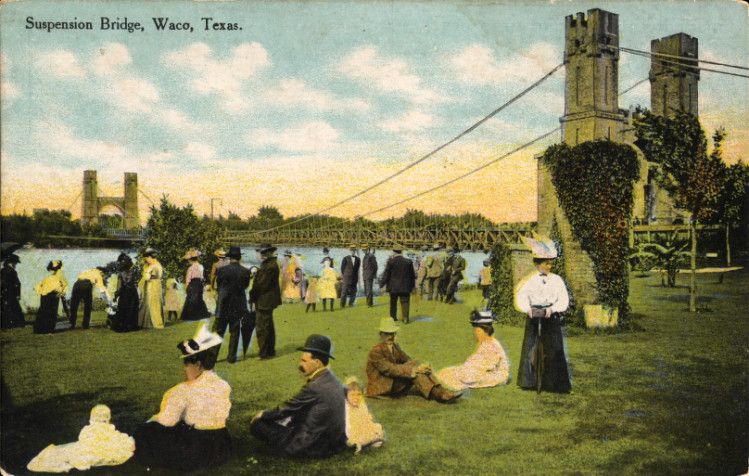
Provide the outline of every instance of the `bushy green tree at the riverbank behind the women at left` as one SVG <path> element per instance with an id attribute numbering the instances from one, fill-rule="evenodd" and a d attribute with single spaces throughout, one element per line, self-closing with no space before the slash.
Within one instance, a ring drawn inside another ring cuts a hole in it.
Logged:
<path id="1" fill-rule="evenodd" d="M 220 236 L 216 223 L 198 218 L 191 204 L 179 208 L 162 197 L 159 208 L 151 207 L 141 251 L 158 250 L 165 277 L 176 278 L 181 277 L 185 269 L 182 256 L 191 249 L 203 252 L 198 261 L 208 268 L 207 260 L 212 252 L 221 248 Z"/>

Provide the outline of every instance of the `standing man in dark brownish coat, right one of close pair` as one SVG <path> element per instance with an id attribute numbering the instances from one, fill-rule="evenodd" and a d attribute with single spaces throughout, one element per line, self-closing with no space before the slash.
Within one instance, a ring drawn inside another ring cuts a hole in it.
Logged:
<path id="1" fill-rule="evenodd" d="M 260 268 L 255 273 L 250 290 L 250 302 L 255 305 L 257 344 L 260 349 L 260 360 L 276 356 L 276 328 L 273 325 L 273 309 L 281 305 L 281 285 L 278 260 L 273 256 L 275 246 L 261 245 L 257 249 L 260 255 Z"/>

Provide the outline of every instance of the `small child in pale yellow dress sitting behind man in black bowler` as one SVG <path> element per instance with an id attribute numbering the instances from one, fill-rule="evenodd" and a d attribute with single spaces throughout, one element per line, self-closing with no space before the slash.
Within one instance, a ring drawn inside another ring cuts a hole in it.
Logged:
<path id="1" fill-rule="evenodd" d="M 375 423 L 361 383 L 353 376 L 346 379 L 346 437 L 349 446 L 356 446 L 357 454 L 370 445 L 379 448 L 385 441 L 385 430 Z"/>

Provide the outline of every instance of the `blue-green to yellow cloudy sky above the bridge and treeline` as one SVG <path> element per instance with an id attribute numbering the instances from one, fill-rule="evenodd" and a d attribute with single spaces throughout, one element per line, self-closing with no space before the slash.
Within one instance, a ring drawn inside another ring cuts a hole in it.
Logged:
<path id="1" fill-rule="evenodd" d="M 2 214 L 49 208 L 79 217 L 87 169 L 97 170 L 102 196 L 122 196 L 124 173 L 136 172 L 142 222 L 164 195 L 199 215 L 211 203 L 216 215 L 243 218 L 263 205 L 284 216 L 323 210 L 551 71 L 562 62 L 565 16 L 592 8 L 619 15 L 622 47 L 649 51 L 652 39 L 684 32 L 699 38 L 701 59 L 749 66 L 747 7 L 736 1 L 53 3 L 0 10 Z M 103 29 L 102 18 L 142 31 Z M 159 31 L 154 18 L 192 30 Z M 63 21 L 93 29 L 28 28 Z M 232 29 L 213 28 L 221 23 Z M 649 66 L 622 53 L 620 92 Z M 619 98 L 622 109 L 638 104 L 650 106 L 647 81 Z M 726 161 L 749 160 L 749 80 L 703 71 L 699 110 L 708 134 L 726 128 Z M 412 208 L 535 221 L 534 155 L 559 134 L 372 212 L 555 129 L 563 114 L 564 68 L 473 133 L 328 213 L 383 219 Z"/>

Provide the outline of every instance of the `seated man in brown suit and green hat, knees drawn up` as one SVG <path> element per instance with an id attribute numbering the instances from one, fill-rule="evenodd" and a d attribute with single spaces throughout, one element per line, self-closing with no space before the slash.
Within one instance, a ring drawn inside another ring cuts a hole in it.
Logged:
<path id="1" fill-rule="evenodd" d="M 398 329 L 391 319 L 380 320 L 380 343 L 367 358 L 367 396 L 399 397 L 415 386 L 424 398 L 443 403 L 460 397 L 442 385 L 429 364 L 413 360 L 395 343 Z"/>

